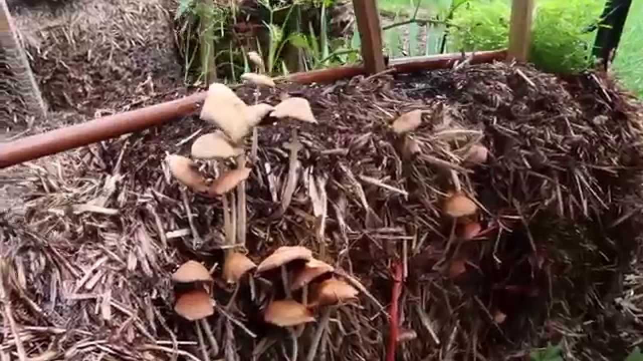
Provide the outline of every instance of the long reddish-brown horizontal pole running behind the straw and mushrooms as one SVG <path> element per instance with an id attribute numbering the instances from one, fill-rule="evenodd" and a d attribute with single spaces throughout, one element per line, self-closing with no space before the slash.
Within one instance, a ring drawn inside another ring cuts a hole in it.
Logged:
<path id="1" fill-rule="evenodd" d="M 475 54 L 467 53 L 465 56 L 471 57 L 472 64 L 477 64 L 503 60 L 506 57 L 506 51 L 482 51 Z M 444 69 L 453 66 L 457 60 L 462 60 L 462 54 L 394 59 L 389 64 L 389 71 L 392 70 L 392 73 L 410 73 L 421 70 Z M 341 78 L 364 74 L 365 70 L 362 66 L 343 66 L 307 73 L 294 73 L 281 79 L 299 84 L 328 83 L 335 82 Z M 88 121 L 87 123 L 0 144 L 0 169 L 32 161 L 46 155 L 105 141 L 123 134 L 153 127 L 171 119 L 187 116 L 199 109 L 199 104 L 203 102 L 205 96 L 205 92 L 199 92 L 168 103 L 115 114 Z"/>

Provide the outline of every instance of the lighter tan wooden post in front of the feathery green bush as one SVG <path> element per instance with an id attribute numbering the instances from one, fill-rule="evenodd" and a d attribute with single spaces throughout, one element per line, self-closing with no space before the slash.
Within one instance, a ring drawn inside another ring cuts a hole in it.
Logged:
<path id="1" fill-rule="evenodd" d="M 531 44 L 531 23 L 534 0 L 513 0 L 509 28 L 507 60 L 527 62 Z"/>

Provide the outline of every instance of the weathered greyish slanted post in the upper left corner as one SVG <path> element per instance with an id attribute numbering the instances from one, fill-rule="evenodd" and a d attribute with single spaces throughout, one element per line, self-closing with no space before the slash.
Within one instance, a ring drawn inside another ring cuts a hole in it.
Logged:
<path id="1" fill-rule="evenodd" d="M 19 92 L 17 95 L 23 99 L 32 115 L 46 118 L 47 107 L 5 0 L 0 0 L 0 48 L 5 52 L 5 61 L 14 75 L 14 89 Z"/>

